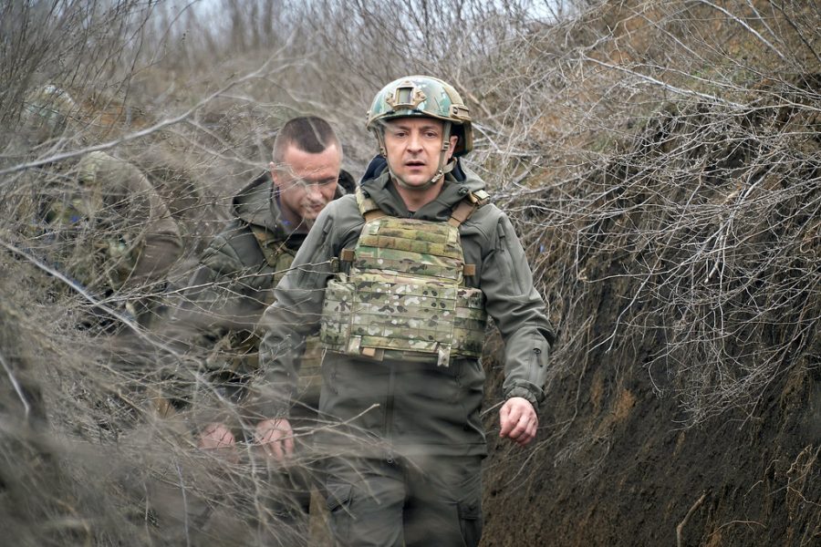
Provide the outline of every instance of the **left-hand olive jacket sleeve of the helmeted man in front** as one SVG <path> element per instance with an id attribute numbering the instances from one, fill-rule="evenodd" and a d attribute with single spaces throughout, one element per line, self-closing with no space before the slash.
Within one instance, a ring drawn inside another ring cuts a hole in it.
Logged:
<path id="1" fill-rule="evenodd" d="M 275 302 L 263 314 L 259 364 L 263 377 L 256 384 L 254 408 L 263 418 L 286 416 L 296 391 L 305 337 L 319 329 L 325 287 L 334 274 L 334 214 L 336 201 L 318 216 L 291 264 L 276 285 Z"/>

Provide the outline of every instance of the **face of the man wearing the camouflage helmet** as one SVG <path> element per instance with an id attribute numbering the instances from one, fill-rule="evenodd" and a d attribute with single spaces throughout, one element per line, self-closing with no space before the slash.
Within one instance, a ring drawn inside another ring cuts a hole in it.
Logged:
<path id="1" fill-rule="evenodd" d="M 407 185 L 423 186 L 439 169 L 444 123 L 435 118 L 391 119 L 385 124 L 385 150 L 390 169 Z M 450 138 L 450 160 L 457 138 Z"/>

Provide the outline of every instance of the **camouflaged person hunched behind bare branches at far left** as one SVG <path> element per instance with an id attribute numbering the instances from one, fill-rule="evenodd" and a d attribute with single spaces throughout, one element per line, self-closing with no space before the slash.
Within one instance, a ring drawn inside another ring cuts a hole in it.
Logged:
<path id="1" fill-rule="evenodd" d="M 26 98 L 22 133 L 32 146 L 70 137 L 78 107 L 56 86 Z M 151 320 L 165 275 L 182 253 L 182 240 L 151 182 L 134 165 L 96 151 L 29 170 L 38 189 L 31 230 L 37 250 L 97 298 L 139 323 Z M 107 315 L 83 324 L 111 325 Z M 108 328 L 108 327 L 107 327 Z"/>

